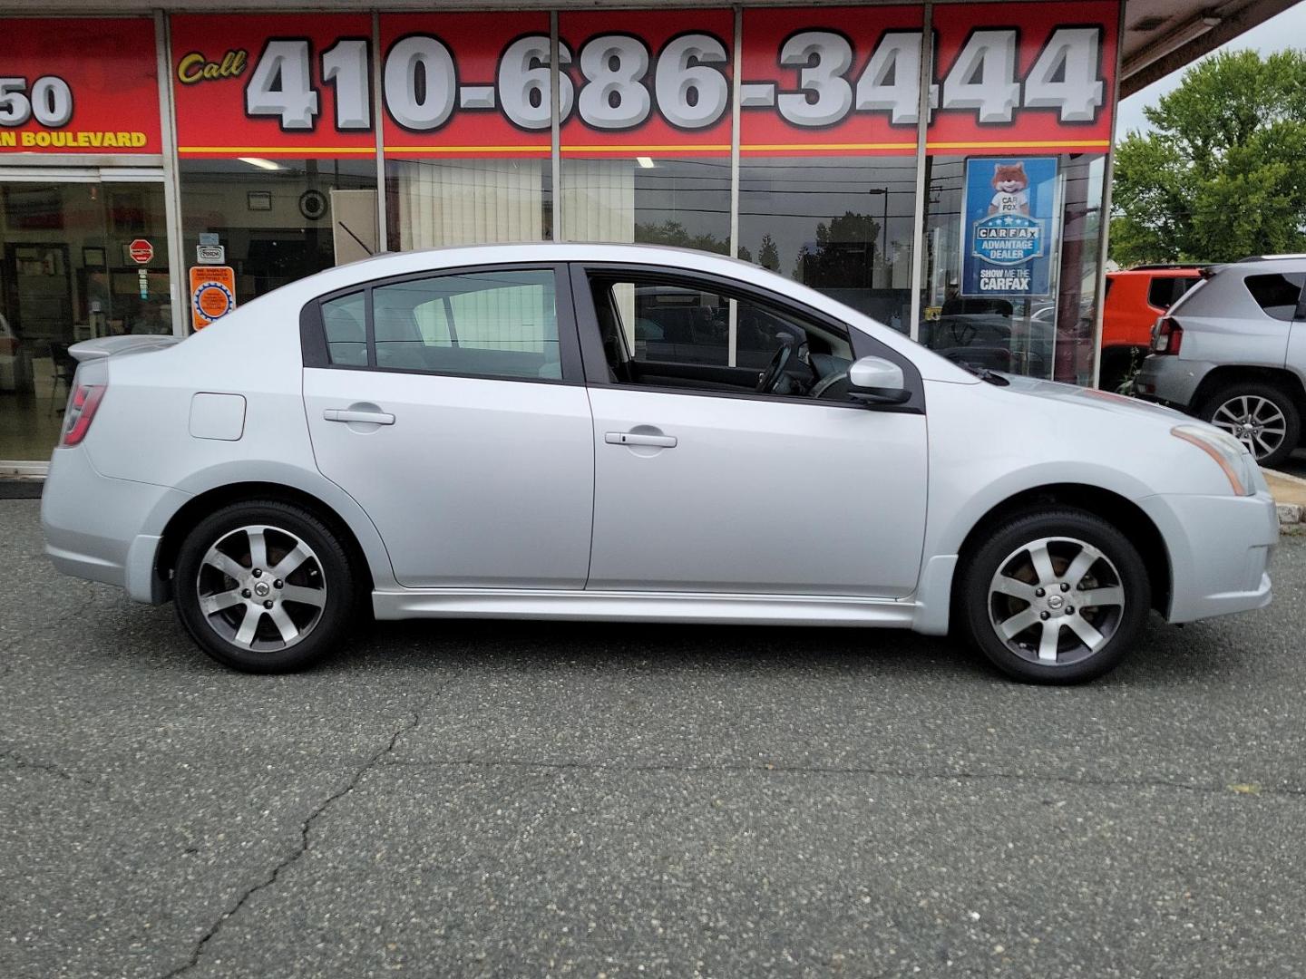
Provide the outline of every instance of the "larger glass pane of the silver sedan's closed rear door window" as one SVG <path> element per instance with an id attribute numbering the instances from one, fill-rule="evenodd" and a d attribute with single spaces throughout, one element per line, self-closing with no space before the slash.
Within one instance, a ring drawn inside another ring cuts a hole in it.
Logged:
<path id="1" fill-rule="evenodd" d="M 376 365 L 562 379 L 551 270 L 473 272 L 372 290 Z"/>

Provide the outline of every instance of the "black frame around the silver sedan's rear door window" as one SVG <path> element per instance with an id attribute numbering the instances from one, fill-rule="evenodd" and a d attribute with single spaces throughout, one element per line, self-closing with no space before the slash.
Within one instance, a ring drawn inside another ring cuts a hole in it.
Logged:
<path id="1" fill-rule="evenodd" d="M 376 363 L 376 325 L 372 319 L 372 290 L 404 282 L 418 282 L 453 275 L 474 275 L 486 272 L 550 272 L 554 275 L 554 311 L 558 320 L 558 356 L 562 377 L 524 377 L 521 375 L 465 373 L 458 371 L 421 371 L 409 367 L 380 367 Z M 323 319 L 323 305 L 334 299 L 363 292 L 364 296 L 364 339 L 367 343 L 367 364 L 333 364 L 326 346 L 326 325 Z M 572 290 L 567 262 L 488 262 L 485 265 L 458 265 L 445 269 L 426 269 L 398 275 L 383 275 L 366 282 L 323 292 L 304 303 L 299 311 L 299 346 L 306 368 L 328 371 L 371 371 L 374 373 L 405 373 L 421 377 L 468 377 L 482 381 L 521 381 L 524 384 L 567 384 L 584 385 L 585 372 L 581 363 L 579 333 L 576 330 L 576 311 L 572 304 Z"/>

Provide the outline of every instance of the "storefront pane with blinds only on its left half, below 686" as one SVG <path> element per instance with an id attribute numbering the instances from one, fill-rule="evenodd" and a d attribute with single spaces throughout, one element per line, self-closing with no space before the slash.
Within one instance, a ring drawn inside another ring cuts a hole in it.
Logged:
<path id="1" fill-rule="evenodd" d="M 567 158 L 562 170 L 563 231 L 571 241 L 730 253 L 727 158 Z"/>

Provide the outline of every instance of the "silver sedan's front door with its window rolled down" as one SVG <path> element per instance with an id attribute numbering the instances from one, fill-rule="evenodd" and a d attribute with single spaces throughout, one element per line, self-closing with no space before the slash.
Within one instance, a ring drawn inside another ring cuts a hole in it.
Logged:
<path id="1" fill-rule="evenodd" d="M 594 414 L 589 589 L 913 591 L 926 419 L 909 362 L 842 324 L 712 277 L 593 265 L 573 268 L 572 281 Z M 786 335 L 810 338 L 791 390 L 757 394 L 759 371 L 727 354 L 712 365 L 641 359 L 632 326 L 648 319 L 641 303 L 656 299 L 657 285 L 699 294 L 699 315 L 733 322 L 735 341 L 743 322 L 769 324 L 763 329 L 776 346 Z M 848 399 L 846 385 L 840 396 L 838 371 L 871 352 L 904 364 L 914 388 L 908 405 L 867 410 Z M 818 364 L 835 386 L 820 398 L 798 396 L 801 384 L 815 390 Z"/>

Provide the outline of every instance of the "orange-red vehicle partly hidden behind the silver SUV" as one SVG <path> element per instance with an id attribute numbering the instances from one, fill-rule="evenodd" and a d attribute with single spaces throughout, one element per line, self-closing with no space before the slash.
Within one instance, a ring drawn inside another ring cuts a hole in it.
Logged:
<path id="1" fill-rule="evenodd" d="M 1117 390 L 1143 363 L 1152 326 L 1202 278 L 1203 265 L 1139 265 L 1106 273 L 1098 386 Z"/>

